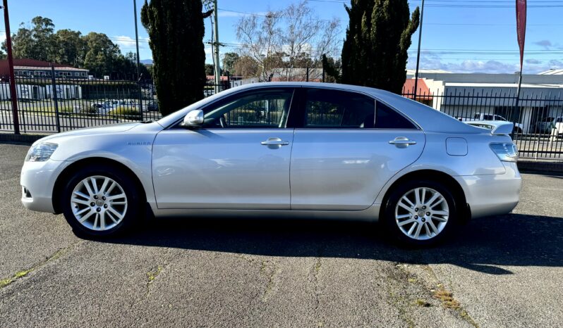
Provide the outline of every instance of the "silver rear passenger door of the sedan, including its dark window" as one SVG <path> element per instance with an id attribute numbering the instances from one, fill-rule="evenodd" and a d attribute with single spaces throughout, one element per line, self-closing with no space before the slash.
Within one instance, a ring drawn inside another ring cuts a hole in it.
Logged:
<path id="1" fill-rule="evenodd" d="M 368 208 L 385 183 L 423 151 L 423 132 L 371 96 L 321 88 L 299 91 L 292 210 Z"/>

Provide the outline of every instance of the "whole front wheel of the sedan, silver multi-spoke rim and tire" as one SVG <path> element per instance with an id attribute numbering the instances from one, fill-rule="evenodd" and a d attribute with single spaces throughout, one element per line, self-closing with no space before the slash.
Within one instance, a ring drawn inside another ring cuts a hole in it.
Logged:
<path id="1" fill-rule="evenodd" d="M 126 231 L 138 216 L 132 179 L 109 165 L 78 170 L 63 191 L 64 216 L 76 234 L 109 236 Z"/>

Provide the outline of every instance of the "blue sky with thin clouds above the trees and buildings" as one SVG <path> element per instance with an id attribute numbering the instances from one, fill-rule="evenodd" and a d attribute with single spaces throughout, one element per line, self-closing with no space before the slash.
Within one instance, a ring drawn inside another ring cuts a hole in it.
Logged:
<path id="1" fill-rule="evenodd" d="M 234 25 L 246 13 L 264 13 L 287 6 L 291 1 L 218 0 L 219 40 L 237 43 Z M 341 20 L 341 39 L 348 23 L 346 0 L 310 0 L 320 19 Z M 514 0 L 425 0 L 420 68 L 454 72 L 514 72 L 518 70 Z M 138 11 L 143 1 L 138 0 Z M 420 0 L 409 1 L 411 10 Z M 130 0 L 8 0 L 11 30 L 29 24 L 36 15 L 51 18 L 56 29 L 103 32 L 123 52 L 135 50 L 133 1 Z M 138 15 L 139 16 L 139 15 Z M 563 0 L 528 0 L 528 29 L 524 72 L 563 68 Z M 140 18 L 139 18 L 140 19 Z M 210 23 L 205 20 L 210 39 Z M 4 31 L 2 30 L 2 34 Z M 151 58 L 147 32 L 139 23 L 140 58 Z M 2 37 L 4 39 L 4 37 Z M 407 68 L 416 63 L 418 31 L 413 35 Z M 209 46 L 206 52 L 210 53 Z M 236 51 L 224 47 L 222 53 Z M 210 56 L 207 57 L 210 62 Z"/>

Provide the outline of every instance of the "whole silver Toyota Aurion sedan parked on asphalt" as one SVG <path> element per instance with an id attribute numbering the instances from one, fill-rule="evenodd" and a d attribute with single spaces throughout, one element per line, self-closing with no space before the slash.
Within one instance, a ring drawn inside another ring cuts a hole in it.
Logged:
<path id="1" fill-rule="evenodd" d="M 38 140 L 22 202 L 83 236 L 143 215 L 315 217 L 379 221 L 426 246 L 518 203 L 511 123 L 491 129 L 368 87 L 249 84 L 157 122 Z"/>

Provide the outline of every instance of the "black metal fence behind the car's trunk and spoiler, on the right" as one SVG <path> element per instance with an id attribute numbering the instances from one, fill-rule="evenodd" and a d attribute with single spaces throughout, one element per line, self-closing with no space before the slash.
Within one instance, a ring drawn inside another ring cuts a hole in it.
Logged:
<path id="1" fill-rule="evenodd" d="M 414 99 L 412 93 L 403 94 Z M 563 98 L 560 92 L 538 92 L 520 97 L 514 91 L 453 89 L 418 94 L 416 100 L 458 120 L 514 122 L 512 139 L 522 158 L 563 160 Z"/>

